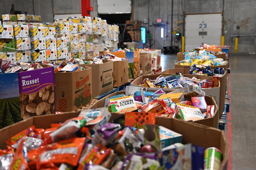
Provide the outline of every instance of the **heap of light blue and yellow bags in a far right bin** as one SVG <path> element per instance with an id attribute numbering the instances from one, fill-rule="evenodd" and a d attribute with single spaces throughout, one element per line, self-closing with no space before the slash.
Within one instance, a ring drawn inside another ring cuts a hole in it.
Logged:
<path id="1" fill-rule="evenodd" d="M 223 58 L 217 58 L 213 54 L 207 54 L 206 50 L 185 52 L 185 59 L 180 62 L 180 65 L 202 65 L 202 66 L 221 66 L 226 65 L 227 61 Z"/>

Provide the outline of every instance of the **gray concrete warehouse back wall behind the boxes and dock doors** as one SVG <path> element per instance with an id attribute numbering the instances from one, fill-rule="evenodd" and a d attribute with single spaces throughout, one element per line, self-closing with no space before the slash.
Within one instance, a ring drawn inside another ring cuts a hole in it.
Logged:
<path id="1" fill-rule="evenodd" d="M 41 14 L 43 22 L 53 21 L 52 2 L 55 14 L 78 14 L 81 12 L 81 0 L 0 0 L 0 14 L 8 14 L 11 4 L 15 10 L 28 14 Z M 170 45 L 171 30 L 171 1 L 172 0 L 134 0 L 134 20 L 149 18 L 149 26 L 144 26 L 154 33 L 152 22 L 161 18 L 167 24 L 165 45 Z M 91 16 L 97 16 L 97 0 L 90 0 L 93 11 Z M 173 0 L 173 27 L 176 21 L 183 20 L 183 10 L 187 14 L 221 12 L 223 0 Z M 149 7 L 149 10 L 148 10 Z M 148 15 L 149 14 L 149 15 Z M 256 34 L 256 0 L 224 0 L 224 36 L 225 45 L 234 47 L 234 34 Z M 236 29 L 240 26 L 240 29 Z M 182 32 L 182 24 L 178 25 Z M 153 36 L 154 37 L 154 36 Z M 253 53 L 256 51 L 256 37 L 240 37 L 239 52 Z M 180 41 L 174 42 L 180 45 Z"/>

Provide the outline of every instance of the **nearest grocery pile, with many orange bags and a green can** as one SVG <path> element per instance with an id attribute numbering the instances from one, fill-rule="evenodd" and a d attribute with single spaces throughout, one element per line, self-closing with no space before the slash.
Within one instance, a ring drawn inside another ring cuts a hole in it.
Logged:
<path id="1" fill-rule="evenodd" d="M 20 130 L 0 150 L 2 170 L 213 170 L 218 148 L 182 144 L 183 135 L 156 125 L 154 113 L 128 112 L 109 122 L 105 108 L 83 110 L 50 128 Z M 122 123 L 118 123 L 122 122 Z M 136 125 L 136 126 L 134 126 Z"/>

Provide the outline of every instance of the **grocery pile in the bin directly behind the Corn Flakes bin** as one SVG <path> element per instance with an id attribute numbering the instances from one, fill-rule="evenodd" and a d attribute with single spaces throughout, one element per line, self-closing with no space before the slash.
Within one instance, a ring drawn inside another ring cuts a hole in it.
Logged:
<path id="1" fill-rule="evenodd" d="M 197 70 L 198 70 L 198 74 L 200 74 L 201 73 L 200 69 L 197 69 Z M 192 73 L 196 74 L 196 70 L 193 70 Z M 213 80 L 197 79 L 195 77 L 189 78 L 189 77 L 184 77 L 183 74 L 181 73 L 178 73 L 178 75 L 176 74 L 172 74 L 168 76 L 160 75 L 154 80 L 151 80 L 148 78 L 144 79 L 140 86 L 147 87 L 147 88 L 184 88 L 189 85 L 193 85 L 196 88 L 215 88 L 215 87 L 218 87 L 219 85 L 219 79 L 217 76 Z"/>

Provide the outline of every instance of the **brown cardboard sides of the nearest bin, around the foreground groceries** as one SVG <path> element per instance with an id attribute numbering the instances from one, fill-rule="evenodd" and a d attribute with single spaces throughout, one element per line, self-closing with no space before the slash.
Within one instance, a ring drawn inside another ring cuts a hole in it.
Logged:
<path id="1" fill-rule="evenodd" d="M 78 115 L 79 112 L 36 116 L 0 129 L 0 149 L 6 148 L 6 140 L 32 125 L 35 125 L 36 128 L 46 129 L 50 128 L 50 124 L 52 123 L 64 122 L 67 119 L 71 119 Z M 120 114 L 112 113 L 110 121 L 117 116 L 120 116 Z M 221 150 L 223 157 L 220 170 L 227 169 L 229 154 L 228 140 L 223 130 L 218 130 L 216 128 L 207 127 L 191 122 L 184 122 L 178 119 L 166 119 L 162 117 L 156 118 L 156 124 L 182 134 L 184 143 L 192 143 L 204 147 L 205 149 L 208 147 L 217 147 L 219 150 Z"/>

